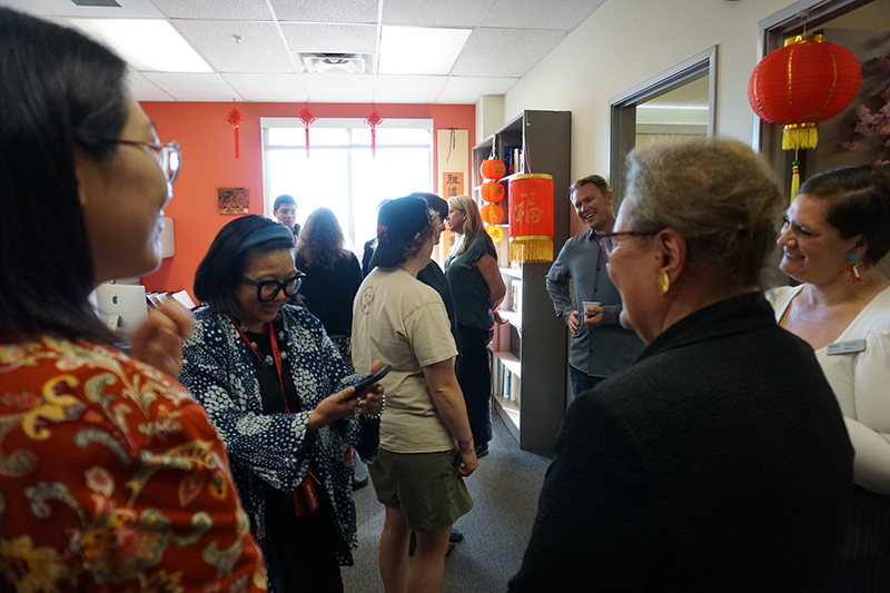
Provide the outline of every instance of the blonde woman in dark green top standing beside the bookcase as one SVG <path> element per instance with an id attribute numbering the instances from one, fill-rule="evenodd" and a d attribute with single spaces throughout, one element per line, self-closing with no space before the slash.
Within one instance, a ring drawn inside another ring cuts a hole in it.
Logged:
<path id="1" fill-rule="evenodd" d="M 482 214 L 468 196 L 448 200 L 448 230 L 457 236 L 445 260 L 445 277 L 457 317 L 455 373 L 464 392 L 476 457 L 483 457 L 488 454 L 492 439 L 492 367 L 487 345 L 495 323 L 494 309 L 507 289 L 497 269 L 497 251 L 482 227 Z"/>

